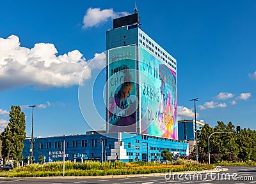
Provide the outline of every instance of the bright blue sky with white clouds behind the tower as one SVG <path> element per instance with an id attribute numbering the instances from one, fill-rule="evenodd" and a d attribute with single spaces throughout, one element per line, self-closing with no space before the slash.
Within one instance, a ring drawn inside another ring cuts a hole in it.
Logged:
<path id="1" fill-rule="evenodd" d="M 178 117 L 194 118 L 189 99 L 198 97 L 196 112 L 205 123 L 256 129 L 256 1 L 145 2 L 136 1 L 143 31 L 177 59 Z M 134 1 L 1 1 L 0 131 L 10 106 L 20 105 L 31 136 L 26 106 L 33 104 L 35 136 L 90 130 L 84 118 L 93 120 L 94 104 L 83 99 L 84 117 L 78 94 L 92 90 L 112 19 L 133 9 Z M 93 58 L 91 73 L 83 73 Z M 94 103 L 104 116 L 101 93 L 94 85 Z M 100 120 L 92 124 L 102 128 Z"/>

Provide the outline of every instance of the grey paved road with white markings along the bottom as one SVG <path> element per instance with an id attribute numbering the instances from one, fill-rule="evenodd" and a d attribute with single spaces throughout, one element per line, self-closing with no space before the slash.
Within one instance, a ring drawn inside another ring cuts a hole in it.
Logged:
<path id="1" fill-rule="evenodd" d="M 220 173 L 202 173 L 198 175 L 186 174 L 177 175 L 171 173 L 166 176 L 148 176 L 148 177 L 128 177 L 125 178 L 83 178 L 83 179 L 70 179 L 70 178 L 6 178 L 0 179 L 0 183 L 10 184 L 69 184 L 69 183 L 86 183 L 86 184 L 155 184 L 155 183 L 179 183 L 179 184 L 197 184 L 197 183 L 239 183 L 251 184 L 256 183 L 256 167 L 225 167 L 228 171 Z M 119 176 L 123 177 L 123 176 Z M 229 177 L 229 179 L 228 179 Z"/>

